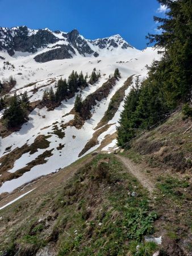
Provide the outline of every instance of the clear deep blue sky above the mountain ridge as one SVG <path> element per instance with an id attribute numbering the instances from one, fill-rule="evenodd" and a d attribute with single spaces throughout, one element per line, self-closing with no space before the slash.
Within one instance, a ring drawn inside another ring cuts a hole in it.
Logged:
<path id="1" fill-rule="evenodd" d="M 145 35 L 155 32 L 153 15 L 164 11 L 159 7 L 156 0 L 0 0 L 0 26 L 65 32 L 77 28 L 87 39 L 120 34 L 143 49 Z"/>

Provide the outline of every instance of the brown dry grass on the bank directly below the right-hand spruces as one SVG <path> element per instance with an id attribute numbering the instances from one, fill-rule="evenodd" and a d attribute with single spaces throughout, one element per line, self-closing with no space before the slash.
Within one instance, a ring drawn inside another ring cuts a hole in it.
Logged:
<path id="1" fill-rule="evenodd" d="M 133 149 L 147 160 L 152 167 L 170 168 L 185 172 L 192 167 L 191 119 L 183 119 L 176 113 L 164 124 L 149 131 L 133 142 Z"/>

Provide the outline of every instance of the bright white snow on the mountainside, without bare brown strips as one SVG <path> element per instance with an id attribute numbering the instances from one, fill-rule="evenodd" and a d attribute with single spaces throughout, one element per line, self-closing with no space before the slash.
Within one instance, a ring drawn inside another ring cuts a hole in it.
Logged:
<path id="1" fill-rule="evenodd" d="M 31 31 L 31 33 L 35 33 L 35 31 Z M 57 34 L 57 36 L 62 35 Z M 62 43 L 65 42 L 62 41 Z M 53 111 L 47 111 L 47 108 L 34 109 L 29 115 L 29 121 L 24 123 L 19 131 L 10 134 L 6 138 L 1 138 L 0 163 L 1 157 L 10 153 L 6 151 L 7 147 L 11 146 L 12 151 L 17 147 L 22 147 L 26 143 L 28 145 L 34 143 L 36 137 L 39 135 L 51 135 L 51 137 L 47 138 L 47 141 L 50 142 L 48 148 L 38 149 L 37 152 L 31 155 L 29 152 L 23 154 L 19 159 L 15 160 L 14 166 L 9 170 L 11 173 L 16 172 L 20 168 L 26 167 L 28 163 L 35 160 L 37 156 L 43 154 L 43 152 L 47 150 L 52 150 L 52 155 L 49 158 L 45 158 L 45 160 L 47 160 L 46 163 L 32 167 L 30 171 L 25 172 L 22 176 L 16 179 L 5 181 L 5 183 L 0 187 L 0 193 L 12 192 L 14 189 L 36 179 L 37 177 L 51 174 L 52 172 L 58 171 L 60 168 L 64 168 L 76 161 L 78 159 L 78 154 L 80 154 L 81 150 L 85 147 L 85 144 L 92 138 L 95 132 L 94 128 L 97 126 L 99 121 L 101 121 L 108 108 L 111 97 L 114 96 L 115 92 L 123 86 L 124 82 L 131 75 L 140 75 L 140 79 L 143 79 L 147 75 L 147 68 L 145 66 L 150 65 L 153 60 L 160 58 L 160 56 L 157 55 L 157 51 L 153 48 L 147 48 L 144 51 L 139 51 L 135 48 L 128 48 L 124 50 L 120 48 L 119 51 L 116 50 L 111 54 L 109 54 L 108 51 L 104 51 L 102 52 L 102 56 L 99 57 L 75 56 L 73 59 L 36 63 L 34 56 L 44 51 L 46 51 L 46 49 L 39 49 L 35 54 L 16 52 L 13 57 L 9 56 L 6 52 L 0 52 L 1 56 L 6 58 L 6 60 L 0 59 L 0 80 L 5 81 L 9 79 L 10 75 L 12 75 L 17 81 L 9 94 L 14 93 L 15 90 L 18 94 L 27 90 L 31 102 L 41 100 L 45 89 L 50 89 L 52 86 L 55 90 L 56 82 L 61 77 L 63 79 L 67 79 L 73 70 L 78 73 L 82 71 L 84 75 L 86 73 L 90 75 L 93 68 L 96 68 L 97 71 L 101 72 L 101 79 L 99 79 L 96 84 L 89 85 L 82 91 L 82 98 L 85 99 L 86 96 L 101 87 L 102 84 L 107 81 L 109 75 L 113 75 L 115 68 L 119 69 L 122 77 L 110 90 L 108 97 L 104 98 L 94 106 L 91 110 L 92 117 L 85 121 L 85 124 L 81 129 L 78 130 L 76 127 L 68 126 L 63 130 L 65 133 L 64 138 L 61 139 L 58 135 L 53 133 L 53 126 L 57 122 L 56 125 L 58 129 L 62 129 L 61 125 L 64 125 L 74 118 L 73 114 L 66 114 L 73 109 L 75 97 L 68 101 L 62 101 L 62 104 Z M 3 61 L 9 61 L 15 68 L 4 69 Z M 22 75 L 18 75 L 19 73 Z M 133 77 L 133 84 L 135 79 L 136 76 Z M 26 86 L 26 88 L 24 86 Z M 36 93 L 32 92 L 34 86 L 37 89 Z M 130 89 L 131 87 L 126 90 L 126 94 L 130 92 Z M 108 122 L 113 125 L 98 137 L 99 144 L 90 148 L 90 150 L 85 154 L 96 150 L 101 145 L 101 142 L 107 134 L 115 133 L 120 112 L 122 112 L 122 110 L 123 102 L 121 102 L 114 118 Z M 59 147 L 60 144 L 64 145 L 64 147 L 58 150 L 57 147 Z M 116 139 L 112 140 L 110 144 L 105 146 L 102 150 L 110 151 L 111 148 L 115 147 Z"/>

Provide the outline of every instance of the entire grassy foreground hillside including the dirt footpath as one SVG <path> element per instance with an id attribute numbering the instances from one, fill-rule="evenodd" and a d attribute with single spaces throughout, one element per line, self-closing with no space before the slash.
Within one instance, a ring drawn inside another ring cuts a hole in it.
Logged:
<path id="1" fill-rule="evenodd" d="M 191 158 L 190 126 L 191 119 L 177 112 L 117 157 L 87 155 L 30 184 L 23 192 L 33 191 L 1 212 L 6 227 L 0 229 L 1 250 L 7 255 L 190 255 L 190 167 L 181 172 L 169 160 L 181 153 Z"/>

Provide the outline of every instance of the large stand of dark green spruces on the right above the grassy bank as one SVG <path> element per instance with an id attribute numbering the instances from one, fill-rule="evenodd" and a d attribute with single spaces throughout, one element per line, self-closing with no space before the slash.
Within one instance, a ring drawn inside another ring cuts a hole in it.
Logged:
<path id="1" fill-rule="evenodd" d="M 126 97 L 120 115 L 118 144 L 123 146 L 140 129 L 147 129 L 178 105 L 190 101 L 192 85 L 192 4 L 190 0 L 158 0 L 165 5 L 166 18 L 155 17 L 163 32 L 149 34 L 150 43 L 161 49 L 162 59 L 154 61 L 148 78 L 137 78 Z"/>

